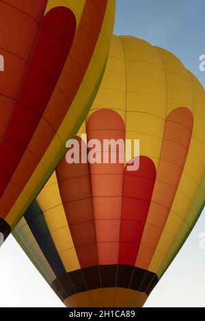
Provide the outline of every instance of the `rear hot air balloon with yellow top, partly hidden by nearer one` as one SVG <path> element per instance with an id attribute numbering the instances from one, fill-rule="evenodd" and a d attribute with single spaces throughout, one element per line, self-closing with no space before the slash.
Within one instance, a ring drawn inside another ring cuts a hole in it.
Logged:
<path id="1" fill-rule="evenodd" d="M 80 162 L 62 158 L 13 232 L 67 307 L 143 306 L 204 207 L 204 130 L 204 88 L 178 58 L 113 36 Z M 92 139 L 125 141 L 131 162 L 86 162 Z"/>

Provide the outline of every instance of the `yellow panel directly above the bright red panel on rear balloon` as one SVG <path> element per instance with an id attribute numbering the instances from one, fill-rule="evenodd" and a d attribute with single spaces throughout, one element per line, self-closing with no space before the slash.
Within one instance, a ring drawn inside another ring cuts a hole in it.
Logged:
<path id="1" fill-rule="evenodd" d="M 140 154 L 149 156 L 157 167 L 167 99 L 163 63 L 148 42 L 120 38 L 126 59 L 126 139 L 139 139 Z"/>

